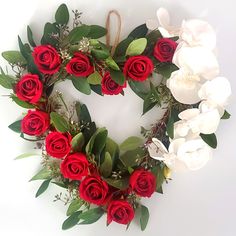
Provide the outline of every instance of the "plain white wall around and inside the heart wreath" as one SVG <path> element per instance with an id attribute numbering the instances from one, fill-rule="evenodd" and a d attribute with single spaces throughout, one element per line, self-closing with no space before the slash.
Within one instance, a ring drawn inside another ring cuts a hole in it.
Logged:
<path id="1" fill-rule="evenodd" d="M 17 49 L 17 34 L 25 38 L 27 24 L 39 38 L 43 24 L 52 21 L 57 0 L 6 0 L 0 3 L 0 51 Z M 169 9 L 173 24 L 181 19 L 201 17 L 216 29 L 218 57 L 221 74 L 230 79 L 235 92 L 236 55 L 236 14 L 233 0 L 71 0 L 70 9 L 84 12 L 84 23 L 104 25 L 106 14 L 117 9 L 123 19 L 123 36 L 147 18 L 155 18 L 156 9 Z M 4 66 L 4 62 L 1 61 Z M 64 90 L 65 86 L 60 86 Z M 127 96 L 107 97 L 96 95 L 79 96 L 68 84 L 68 98 L 82 99 L 91 109 L 95 120 L 109 128 L 113 138 L 121 141 L 124 137 L 137 134 L 140 124 L 148 126 L 158 115 L 150 113 L 140 118 L 142 104 L 132 93 Z M 0 95 L 9 91 L 0 88 Z M 39 168 L 40 159 L 13 159 L 32 150 L 7 126 L 15 121 L 22 110 L 7 97 L 0 97 L 0 235 L 51 236 L 51 235 L 148 235 L 148 236 L 235 236 L 236 235 L 236 96 L 233 93 L 229 112 L 232 118 L 222 121 L 217 132 L 218 149 L 214 158 L 200 171 L 175 174 L 173 181 L 164 187 L 164 195 L 155 195 L 144 203 L 150 209 L 150 222 L 145 232 L 132 223 L 125 227 L 111 224 L 105 226 L 105 217 L 91 226 L 79 226 L 62 231 L 61 224 L 66 218 L 66 208 L 53 203 L 54 195 L 60 188 L 50 187 L 39 199 L 34 198 L 39 182 L 28 182 Z"/>

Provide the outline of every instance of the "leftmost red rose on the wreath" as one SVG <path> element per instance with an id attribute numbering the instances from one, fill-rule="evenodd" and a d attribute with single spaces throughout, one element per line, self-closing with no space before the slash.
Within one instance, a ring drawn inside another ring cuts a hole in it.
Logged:
<path id="1" fill-rule="evenodd" d="M 27 74 L 16 84 L 16 96 L 29 103 L 37 103 L 42 96 L 43 84 L 38 75 Z"/>

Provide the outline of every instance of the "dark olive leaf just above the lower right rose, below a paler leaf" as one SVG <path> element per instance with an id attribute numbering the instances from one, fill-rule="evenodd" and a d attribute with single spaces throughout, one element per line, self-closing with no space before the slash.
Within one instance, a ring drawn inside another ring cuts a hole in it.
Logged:
<path id="1" fill-rule="evenodd" d="M 137 166 L 143 159 L 145 151 L 143 148 L 136 148 L 132 151 L 127 151 L 120 156 L 120 160 L 126 167 Z"/>

